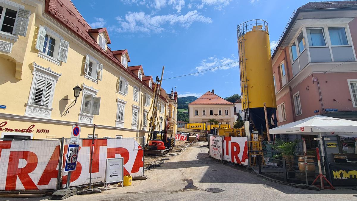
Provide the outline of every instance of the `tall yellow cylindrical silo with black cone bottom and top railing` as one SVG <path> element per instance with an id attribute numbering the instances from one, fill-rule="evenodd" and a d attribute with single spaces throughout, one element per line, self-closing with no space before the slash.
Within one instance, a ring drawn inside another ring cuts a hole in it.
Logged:
<path id="1" fill-rule="evenodd" d="M 249 118 L 256 128 L 266 127 L 264 103 L 268 119 L 273 114 L 276 117 L 268 23 L 264 20 L 241 23 L 237 34 L 243 111 L 249 109 Z"/>

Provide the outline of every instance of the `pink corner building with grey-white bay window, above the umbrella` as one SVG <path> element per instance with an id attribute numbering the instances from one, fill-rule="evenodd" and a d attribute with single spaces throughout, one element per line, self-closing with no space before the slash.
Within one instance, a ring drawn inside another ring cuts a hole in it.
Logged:
<path id="1" fill-rule="evenodd" d="M 272 55 L 278 125 L 316 114 L 357 121 L 357 6 L 348 2 L 311 2 L 292 16 Z"/>

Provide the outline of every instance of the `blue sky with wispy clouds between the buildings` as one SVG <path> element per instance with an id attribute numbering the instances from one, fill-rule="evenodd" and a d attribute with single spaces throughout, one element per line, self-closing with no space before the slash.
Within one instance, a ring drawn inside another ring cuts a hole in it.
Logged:
<path id="1" fill-rule="evenodd" d="M 269 23 L 272 46 L 293 10 L 308 1 L 286 0 L 72 0 L 92 26 L 106 27 L 112 50 L 127 49 L 129 65 L 164 78 L 195 73 L 238 61 L 237 24 Z M 168 93 L 199 97 L 215 89 L 221 97 L 240 94 L 239 63 L 163 81 Z M 174 88 L 175 89 L 175 88 Z"/>

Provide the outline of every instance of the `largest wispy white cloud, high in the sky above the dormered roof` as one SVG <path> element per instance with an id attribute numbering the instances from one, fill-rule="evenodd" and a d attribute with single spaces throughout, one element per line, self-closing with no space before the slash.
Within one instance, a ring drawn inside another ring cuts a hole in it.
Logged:
<path id="1" fill-rule="evenodd" d="M 119 33 L 122 32 L 144 32 L 144 33 L 161 33 L 166 30 L 167 26 L 180 25 L 188 28 L 194 22 L 212 23 L 211 18 L 207 18 L 197 10 L 188 11 L 185 15 L 147 15 L 144 12 L 128 12 L 125 18 L 116 17 L 119 26 L 111 26 L 111 30 Z"/>

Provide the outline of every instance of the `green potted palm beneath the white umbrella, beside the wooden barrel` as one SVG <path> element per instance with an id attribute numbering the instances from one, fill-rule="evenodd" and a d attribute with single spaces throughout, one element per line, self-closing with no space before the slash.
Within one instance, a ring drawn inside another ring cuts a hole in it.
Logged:
<path id="1" fill-rule="evenodd" d="M 272 147 L 279 152 L 273 157 L 285 158 L 285 162 L 288 165 L 288 176 L 290 178 L 295 178 L 295 171 L 292 167 L 292 164 L 294 162 L 294 155 L 297 155 L 299 143 L 300 139 L 295 139 L 291 142 L 285 142 L 282 139 L 275 139 L 275 143 L 272 144 Z"/>

